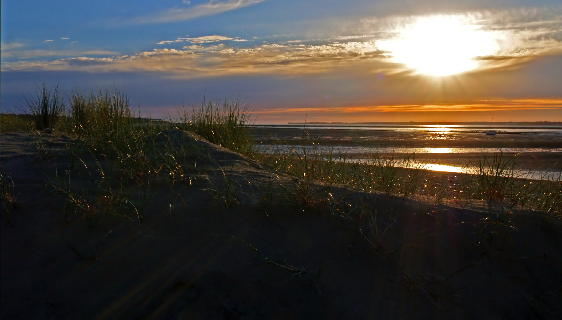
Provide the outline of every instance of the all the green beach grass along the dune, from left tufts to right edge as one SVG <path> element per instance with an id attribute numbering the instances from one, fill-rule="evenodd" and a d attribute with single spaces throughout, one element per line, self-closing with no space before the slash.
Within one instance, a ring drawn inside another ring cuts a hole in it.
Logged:
<path id="1" fill-rule="evenodd" d="M 456 178 L 450 180 L 451 174 L 425 170 L 427 160 L 416 159 L 415 153 L 371 149 L 365 150 L 366 159 L 353 159 L 337 148 L 306 141 L 297 147 L 278 141 L 260 149 L 249 135 L 249 128 L 255 122 L 252 112 L 238 98 L 184 104 L 175 118 L 162 121 L 141 118 L 139 111 L 130 105 L 126 92 L 115 86 L 89 92 L 74 90 L 66 95 L 66 100 L 62 96 L 58 85 L 38 86 L 35 96 L 25 98 L 20 114 L 1 115 L 2 132 L 50 126 L 71 138 L 71 162 L 85 163 L 82 157 L 90 161 L 105 159 L 105 163 L 111 163 L 110 171 L 119 173 L 119 179 L 173 184 L 191 182 L 199 170 L 185 165 L 189 163 L 188 150 L 169 147 L 170 143 L 163 147 L 155 139 L 165 135 L 166 129 L 191 131 L 288 174 L 292 177 L 291 184 L 280 187 L 285 200 L 315 210 L 323 210 L 345 198 L 338 191 L 343 187 L 365 193 L 425 197 L 435 203 L 485 200 L 490 206 L 501 203 L 508 208 L 523 206 L 552 216 L 562 215 L 562 182 L 546 176 L 520 178 L 515 169 L 516 157 L 507 157 L 501 150 L 480 155 L 468 165 L 471 170 L 466 172 L 471 174 L 455 174 Z M 228 169 L 222 170 L 226 185 L 211 184 L 207 191 L 217 202 L 239 203 L 241 194 L 235 192 L 236 182 L 229 178 Z M 71 203 L 83 202 L 74 195 L 69 200 Z M 77 207 L 77 210 L 86 209 Z"/>

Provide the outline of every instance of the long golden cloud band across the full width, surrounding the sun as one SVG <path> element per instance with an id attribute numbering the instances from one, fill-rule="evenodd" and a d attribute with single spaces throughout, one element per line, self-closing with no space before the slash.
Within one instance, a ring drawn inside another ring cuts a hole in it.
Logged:
<path id="1" fill-rule="evenodd" d="M 232 1 L 231 1 L 232 2 Z M 239 1 L 238 1 L 239 2 Z M 238 3 L 237 2 L 237 3 Z M 221 2 L 223 3 L 223 2 Z M 224 2 L 225 3 L 225 2 Z M 216 3 L 215 3 L 216 4 Z M 537 16 L 529 20 L 527 16 L 513 16 L 507 13 L 461 13 L 461 21 L 475 25 L 475 30 L 489 33 L 497 50 L 492 54 L 475 56 L 478 67 L 469 72 L 481 72 L 495 68 L 513 67 L 530 59 L 544 55 L 562 54 L 562 15 L 556 17 Z M 492 18 L 493 16 L 493 18 Z M 427 16 L 421 16 L 427 17 Z M 382 50 L 384 41 L 400 36 L 401 27 L 407 26 L 420 16 L 387 17 L 362 21 L 353 34 L 333 35 L 325 40 L 315 39 L 315 45 L 306 40 L 283 41 L 282 43 L 259 43 L 237 46 L 236 39 L 222 35 L 200 37 L 180 36 L 175 40 L 160 41 L 158 44 L 186 43 L 182 49 L 153 49 L 123 57 L 85 59 L 83 55 L 116 55 L 116 52 L 90 50 L 86 52 L 55 52 L 49 50 L 13 50 L 2 53 L 3 57 L 30 58 L 47 56 L 72 56 L 75 58 L 56 61 L 11 61 L 2 64 L 2 71 L 10 70 L 76 70 L 90 72 L 153 71 L 170 73 L 174 77 L 217 76 L 229 74 L 255 73 L 319 73 L 329 72 L 343 66 L 357 66 L 363 73 L 383 73 L 385 75 L 410 75 L 413 73 L 404 64 L 392 61 L 392 52 Z M 285 35 L 276 35 L 285 36 Z M 230 43 L 224 41 L 231 41 Z M 446 45 L 447 43 L 445 43 Z M 4 44 L 3 44 L 4 46 Z M 432 57 L 438 54 L 432 48 L 415 48 L 411 54 L 419 57 Z M 78 59 L 78 60 L 73 60 Z M 423 59 L 421 59 L 423 62 Z"/>

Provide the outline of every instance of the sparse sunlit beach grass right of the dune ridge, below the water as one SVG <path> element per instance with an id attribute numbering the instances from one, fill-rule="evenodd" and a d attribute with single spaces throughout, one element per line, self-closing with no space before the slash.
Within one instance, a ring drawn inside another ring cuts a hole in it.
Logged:
<path id="1" fill-rule="evenodd" d="M 484 200 L 488 206 L 498 203 L 506 208 L 521 206 L 562 215 L 560 178 L 547 174 L 539 179 L 522 178 L 515 169 L 516 157 L 506 156 L 499 149 L 479 155 L 477 161 L 467 165 L 466 173 L 427 170 L 428 160 L 419 161 L 415 153 L 393 150 L 366 150 L 365 161 L 316 144 L 289 147 L 279 143 L 273 149 L 260 161 L 294 177 L 293 188 L 285 194 L 305 207 L 323 205 L 333 197 L 336 186 L 345 186 L 362 192 L 421 196 L 435 203 Z"/>

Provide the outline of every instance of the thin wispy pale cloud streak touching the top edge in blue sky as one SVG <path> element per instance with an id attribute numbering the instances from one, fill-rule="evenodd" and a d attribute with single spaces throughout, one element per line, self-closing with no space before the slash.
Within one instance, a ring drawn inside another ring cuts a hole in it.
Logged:
<path id="1" fill-rule="evenodd" d="M 184 21 L 196 17 L 211 16 L 218 13 L 236 10 L 238 8 L 252 6 L 253 4 L 263 1 L 264 0 L 228 0 L 216 2 L 215 0 L 210 0 L 205 4 L 198 4 L 192 8 L 172 8 L 153 16 L 139 17 L 134 19 L 132 22 L 138 24 L 149 24 Z"/>

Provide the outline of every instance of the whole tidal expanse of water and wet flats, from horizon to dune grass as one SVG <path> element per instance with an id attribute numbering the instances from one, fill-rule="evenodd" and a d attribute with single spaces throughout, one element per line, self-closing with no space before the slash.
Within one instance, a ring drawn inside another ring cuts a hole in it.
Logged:
<path id="1" fill-rule="evenodd" d="M 353 161 L 368 161 L 371 152 L 415 153 L 424 160 L 420 169 L 473 174 L 477 171 L 467 163 L 501 150 L 517 155 L 520 178 L 559 180 L 562 172 L 562 126 L 289 124 L 255 126 L 252 135 L 262 142 L 257 147 L 270 153 L 278 141 L 299 153 L 305 146 L 307 153 L 345 154 Z"/>

